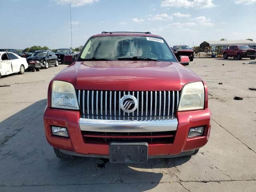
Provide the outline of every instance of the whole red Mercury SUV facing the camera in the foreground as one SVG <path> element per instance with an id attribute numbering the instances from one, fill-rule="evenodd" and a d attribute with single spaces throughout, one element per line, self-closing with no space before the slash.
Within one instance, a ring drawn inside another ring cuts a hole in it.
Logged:
<path id="1" fill-rule="evenodd" d="M 46 139 L 58 158 L 196 154 L 210 135 L 206 83 L 150 32 L 102 32 L 50 82 Z"/>

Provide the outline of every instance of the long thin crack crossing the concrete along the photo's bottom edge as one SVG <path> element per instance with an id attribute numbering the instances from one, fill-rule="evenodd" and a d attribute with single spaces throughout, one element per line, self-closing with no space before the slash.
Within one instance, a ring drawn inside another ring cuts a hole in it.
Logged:
<path id="1" fill-rule="evenodd" d="M 188 180 L 188 181 L 185 181 L 185 180 L 180 180 L 180 181 L 174 181 L 172 183 L 181 183 L 181 182 L 187 182 L 187 183 L 209 183 L 209 182 L 240 182 L 240 181 L 256 181 L 256 179 L 241 179 L 241 180 L 202 180 L 202 181 L 193 181 L 193 180 Z M 170 183 L 169 181 L 168 182 L 142 182 L 140 184 L 164 184 L 164 183 Z M 120 183 L 92 183 L 92 184 L 34 184 L 34 185 L 26 185 L 26 184 L 23 184 L 23 185 L 11 185 L 11 186 L 6 186 L 6 185 L 3 185 L 1 184 L 0 187 L 36 187 L 36 186 L 79 186 L 79 185 L 85 185 L 85 186 L 88 186 L 88 185 L 105 185 L 105 184 L 138 184 L 137 182 L 133 182 L 133 183 L 126 183 L 126 182 L 120 182 Z"/>

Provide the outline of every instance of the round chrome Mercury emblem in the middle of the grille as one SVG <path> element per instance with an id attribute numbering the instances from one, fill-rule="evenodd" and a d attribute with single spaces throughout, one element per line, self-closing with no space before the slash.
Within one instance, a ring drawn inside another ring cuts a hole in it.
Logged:
<path id="1" fill-rule="evenodd" d="M 124 95 L 120 99 L 121 109 L 126 113 L 132 113 L 138 108 L 138 101 L 132 95 Z"/>

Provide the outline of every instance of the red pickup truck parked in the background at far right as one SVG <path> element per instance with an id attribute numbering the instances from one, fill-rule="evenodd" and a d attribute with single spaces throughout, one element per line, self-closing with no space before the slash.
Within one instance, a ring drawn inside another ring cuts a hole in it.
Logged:
<path id="1" fill-rule="evenodd" d="M 242 58 L 256 59 L 256 50 L 246 45 L 230 46 L 229 49 L 222 50 L 222 54 L 224 59 L 228 59 L 228 57 L 234 57 L 238 60 Z"/>

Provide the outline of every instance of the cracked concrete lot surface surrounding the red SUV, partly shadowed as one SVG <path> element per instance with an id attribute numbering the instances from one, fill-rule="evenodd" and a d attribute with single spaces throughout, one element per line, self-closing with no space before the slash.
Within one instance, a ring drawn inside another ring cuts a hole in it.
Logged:
<path id="1" fill-rule="evenodd" d="M 195 58 L 188 68 L 209 86 L 210 140 L 196 156 L 111 164 L 58 159 L 46 141 L 43 112 L 50 80 L 66 66 L 2 77 L 0 191 L 256 190 L 256 64 Z M 243 100 L 234 100 L 238 96 Z"/>

